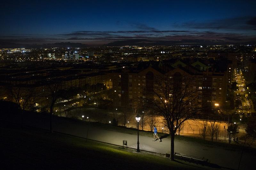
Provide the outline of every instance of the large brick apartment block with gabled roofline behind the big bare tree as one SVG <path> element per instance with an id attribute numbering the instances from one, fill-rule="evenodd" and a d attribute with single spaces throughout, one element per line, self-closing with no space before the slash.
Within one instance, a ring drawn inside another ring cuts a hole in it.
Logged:
<path id="1" fill-rule="evenodd" d="M 148 62 L 149 63 L 149 62 Z M 177 64 L 176 64 L 177 63 Z M 153 66 L 145 65 L 142 69 L 121 70 L 112 73 L 113 103 L 118 107 L 131 107 L 134 102 L 147 98 L 147 92 L 154 87 L 154 78 L 161 74 L 181 74 L 196 79 L 198 89 L 198 106 L 214 107 L 216 103 L 220 107 L 226 104 L 228 86 L 228 68 L 218 67 L 194 67 L 192 64 L 182 64 L 180 61 L 174 64 L 162 64 Z M 200 64 L 195 63 L 196 66 Z M 194 64 L 194 65 L 195 65 Z M 183 66 L 182 66 L 183 65 Z"/>

